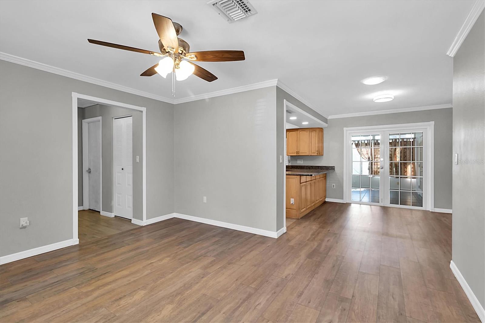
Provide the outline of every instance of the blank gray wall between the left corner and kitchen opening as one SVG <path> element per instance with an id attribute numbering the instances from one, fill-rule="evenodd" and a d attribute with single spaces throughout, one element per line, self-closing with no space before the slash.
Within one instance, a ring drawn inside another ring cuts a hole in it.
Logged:
<path id="1" fill-rule="evenodd" d="M 177 104 L 178 213 L 276 230 L 275 88 Z"/>

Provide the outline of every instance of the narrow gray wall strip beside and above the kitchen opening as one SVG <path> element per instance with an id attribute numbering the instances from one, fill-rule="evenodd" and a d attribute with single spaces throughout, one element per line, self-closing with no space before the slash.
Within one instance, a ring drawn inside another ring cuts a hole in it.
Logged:
<path id="1" fill-rule="evenodd" d="M 286 165 L 284 162 L 279 162 L 279 156 L 283 156 L 284 161 L 286 142 L 286 133 L 283 127 L 283 124 L 285 123 L 284 118 L 286 113 L 286 109 L 284 107 L 285 100 L 297 106 L 301 110 L 313 115 L 317 119 L 327 123 L 327 118 L 325 118 L 323 115 L 315 112 L 313 109 L 311 109 L 295 97 L 291 96 L 288 92 L 284 91 L 280 87 L 276 87 L 276 155 L 278 158 L 276 164 L 276 226 L 278 230 L 281 229 L 284 224 L 283 183 L 286 180 L 286 177 L 283 170 L 286 169 Z"/>

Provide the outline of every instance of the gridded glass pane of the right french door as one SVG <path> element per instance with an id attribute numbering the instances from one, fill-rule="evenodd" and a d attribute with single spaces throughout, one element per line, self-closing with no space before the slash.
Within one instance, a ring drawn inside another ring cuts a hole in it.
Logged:
<path id="1" fill-rule="evenodd" d="M 389 204 L 423 206 L 423 132 L 389 133 Z"/>

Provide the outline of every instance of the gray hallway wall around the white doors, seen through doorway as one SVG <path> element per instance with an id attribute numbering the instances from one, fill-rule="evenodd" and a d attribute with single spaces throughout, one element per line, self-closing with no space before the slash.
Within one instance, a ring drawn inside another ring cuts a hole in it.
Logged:
<path id="1" fill-rule="evenodd" d="M 105 212 L 113 212 L 113 118 L 132 115 L 133 117 L 133 218 L 143 220 L 143 167 L 142 167 L 142 112 L 132 109 L 126 109 L 115 106 L 107 106 L 97 104 L 87 108 L 78 108 L 78 118 L 82 119 L 94 118 L 97 116 L 102 117 L 102 195 L 103 205 L 101 210 Z M 78 129 L 79 131 L 79 129 Z M 82 135 L 78 136 L 78 151 L 81 146 L 81 158 L 82 158 Z M 140 162 L 136 162 L 136 156 L 140 157 Z M 82 162 L 78 164 L 79 173 L 82 174 Z M 79 198 L 82 206 L 82 175 L 79 182 L 80 190 L 78 191 Z"/>

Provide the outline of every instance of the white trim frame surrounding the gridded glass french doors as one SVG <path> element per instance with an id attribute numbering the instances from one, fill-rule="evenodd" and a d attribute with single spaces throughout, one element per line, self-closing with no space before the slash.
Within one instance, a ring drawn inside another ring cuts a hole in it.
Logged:
<path id="1" fill-rule="evenodd" d="M 366 126 L 366 127 L 351 127 L 343 129 L 343 199 L 345 203 L 353 203 L 350 197 L 349 180 L 350 180 L 350 165 L 348 162 L 350 154 L 350 136 L 349 134 L 354 131 L 370 132 L 370 131 L 393 131 L 399 129 L 425 129 L 427 136 L 424 139 L 425 145 L 429 147 L 429 158 L 425 162 L 428 169 L 425 174 L 426 182 L 425 187 L 426 198 L 423 205 L 424 210 L 434 210 L 435 208 L 435 122 L 417 122 L 417 123 L 405 123 L 397 125 L 379 125 L 379 126 Z M 361 203 L 365 204 L 365 203 Z M 392 207 L 403 208 L 403 206 L 392 205 Z M 405 207 L 412 208 L 412 207 Z"/>

